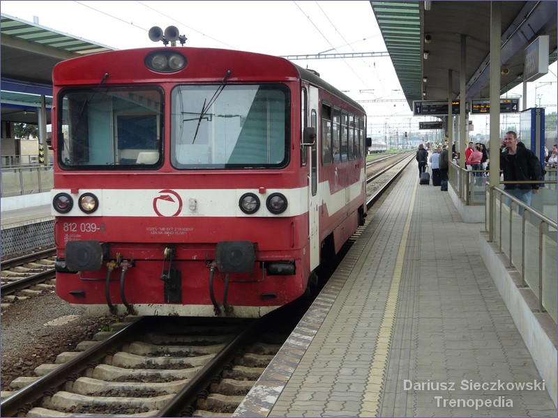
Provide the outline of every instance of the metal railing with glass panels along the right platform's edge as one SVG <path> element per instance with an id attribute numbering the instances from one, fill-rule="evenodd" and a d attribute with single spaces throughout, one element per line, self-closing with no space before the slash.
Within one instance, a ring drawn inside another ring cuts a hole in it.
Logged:
<path id="1" fill-rule="evenodd" d="M 485 205 L 485 230 L 508 267 L 521 275 L 538 300 L 539 311 L 557 322 L 557 169 L 548 165 L 545 180 L 534 194 L 531 206 L 508 194 L 504 184 L 488 187 L 488 171 L 467 171 L 451 162 L 449 181 L 467 206 Z M 529 183 L 529 182 L 515 182 Z M 486 205 L 485 203 L 489 204 Z"/>

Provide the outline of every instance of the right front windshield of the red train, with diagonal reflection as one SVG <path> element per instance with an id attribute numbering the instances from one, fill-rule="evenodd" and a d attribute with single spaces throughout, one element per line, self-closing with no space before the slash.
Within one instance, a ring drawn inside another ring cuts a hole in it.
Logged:
<path id="1" fill-rule="evenodd" d="M 171 102 L 171 163 L 177 169 L 287 164 L 290 98 L 286 86 L 177 86 Z"/>

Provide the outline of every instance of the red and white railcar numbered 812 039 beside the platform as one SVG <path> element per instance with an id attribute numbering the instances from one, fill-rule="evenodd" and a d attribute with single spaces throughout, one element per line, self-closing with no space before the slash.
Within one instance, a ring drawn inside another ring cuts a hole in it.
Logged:
<path id="1" fill-rule="evenodd" d="M 255 318 L 363 224 L 363 108 L 276 56 L 153 47 L 53 72 L 56 293 Z"/>

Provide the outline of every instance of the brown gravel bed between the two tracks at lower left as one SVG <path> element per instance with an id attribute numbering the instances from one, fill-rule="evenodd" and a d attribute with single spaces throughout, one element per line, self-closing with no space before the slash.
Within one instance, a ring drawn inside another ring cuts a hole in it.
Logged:
<path id="1" fill-rule="evenodd" d="M 56 355 L 75 350 L 115 320 L 84 316 L 54 291 L 15 302 L 1 314 L 1 389 L 9 390 L 10 382 L 20 376 L 36 376 L 37 366 L 53 364 Z M 47 324 L 50 321 L 54 323 Z"/>

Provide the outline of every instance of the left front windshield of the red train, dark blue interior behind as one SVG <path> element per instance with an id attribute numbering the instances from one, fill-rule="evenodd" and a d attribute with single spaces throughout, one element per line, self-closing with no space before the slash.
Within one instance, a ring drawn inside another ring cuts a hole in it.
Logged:
<path id="1" fill-rule="evenodd" d="M 145 168 L 162 161 L 162 89 L 100 87 L 63 91 L 60 98 L 61 167 Z"/>

